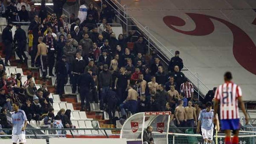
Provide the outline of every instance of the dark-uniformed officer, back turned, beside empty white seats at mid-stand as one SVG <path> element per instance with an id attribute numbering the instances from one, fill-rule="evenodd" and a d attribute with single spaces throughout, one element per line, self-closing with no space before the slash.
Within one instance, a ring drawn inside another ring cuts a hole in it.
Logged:
<path id="1" fill-rule="evenodd" d="M 80 87 L 80 97 L 81 97 L 81 110 L 84 110 L 84 100 L 86 98 L 86 109 L 90 109 L 90 102 L 92 101 L 92 97 L 89 94 L 91 89 L 95 89 L 95 82 L 92 77 L 93 71 L 91 69 L 88 70 L 87 73 L 82 74 L 78 79 L 78 85 Z"/>

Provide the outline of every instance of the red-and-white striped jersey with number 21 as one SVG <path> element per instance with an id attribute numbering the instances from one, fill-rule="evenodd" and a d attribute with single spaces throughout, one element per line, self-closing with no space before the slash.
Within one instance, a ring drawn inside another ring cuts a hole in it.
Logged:
<path id="1" fill-rule="evenodd" d="M 220 85 L 214 98 L 220 101 L 221 120 L 231 120 L 239 118 L 238 97 L 242 96 L 240 86 L 233 82 L 226 82 Z"/>

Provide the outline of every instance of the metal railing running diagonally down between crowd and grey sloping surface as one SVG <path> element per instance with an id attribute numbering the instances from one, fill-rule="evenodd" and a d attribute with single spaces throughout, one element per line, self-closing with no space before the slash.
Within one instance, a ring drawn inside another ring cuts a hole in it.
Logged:
<path id="1" fill-rule="evenodd" d="M 134 17 L 128 16 L 128 6 L 121 5 L 117 0 L 111 0 L 110 3 L 107 0 L 105 1 L 108 5 L 116 11 L 116 18 L 120 20 L 123 27 L 125 27 L 126 32 L 135 31 L 138 34 L 144 34 L 144 39 L 148 43 L 148 49 L 157 49 L 159 54 L 163 56 L 161 60 L 168 65 L 170 58 L 174 56 L 174 50 L 168 49 L 162 42 L 160 42 L 149 30 L 148 26 L 143 26 L 140 22 L 138 22 Z M 194 83 L 195 87 L 198 89 L 196 92 L 199 93 L 200 96 L 204 97 L 204 95 L 210 90 L 210 88 L 200 79 L 198 73 L 192 72 L 188 66 L 184 65 L 186 71 L 183 73 L 188 77 L 188 79 Z M 198 95 L 198 96 L 199 96 Z"/>

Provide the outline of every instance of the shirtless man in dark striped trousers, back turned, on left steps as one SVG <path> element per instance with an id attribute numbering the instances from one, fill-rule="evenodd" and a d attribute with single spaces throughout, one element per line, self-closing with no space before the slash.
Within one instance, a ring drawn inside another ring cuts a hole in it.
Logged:
<path id="1" fill-rule="evenodd" d="M 47 65 L 46 65 L 46 60 L 47 60 L 47 53 L 48 53 L 48 49 L 47 49 L 47 45 L 43 42 L 43 37 L 39 37 L 38 38 L 38 46 L 37 46 L 37 54 L 35 56 L 35 63 L 36 63 L 36 59 L 38 58 L 38 56 L 40 56 L 40 63 L 41 63 L 41 69 L 43 72 L 43 79 L 45 80 L 46 75 L 47 75 Z"/>

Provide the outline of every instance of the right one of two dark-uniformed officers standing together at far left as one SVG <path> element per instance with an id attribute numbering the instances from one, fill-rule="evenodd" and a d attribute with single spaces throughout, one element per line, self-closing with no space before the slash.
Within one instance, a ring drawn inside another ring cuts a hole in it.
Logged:
<path id="1" fill-rule="evenodd" d="M 18 48 L 16 50 L 17 55 L 19 56 L 19 59 L 21 62 L 27 62 L 28 58 L 24 51 L 26 50 L 26 43 L 27 43 L 27 37 L 26 37 L 26 32 L 20 27 L 20 24 L 16 24 L 16 31 L 13 39 L 13 43 L 16 42 L 18 43 Z M 22 56 L 25 58 L 23 61 Z"/>

